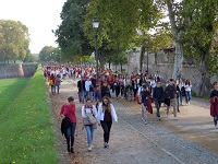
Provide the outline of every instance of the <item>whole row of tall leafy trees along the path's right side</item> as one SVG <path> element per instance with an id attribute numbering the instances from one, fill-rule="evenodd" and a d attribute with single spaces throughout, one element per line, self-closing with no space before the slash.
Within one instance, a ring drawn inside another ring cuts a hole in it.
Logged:
<path id="1" fill-rule="evenodd" d="M 125 50 L 142 47 L 149 38 L 149 51 L 157 51 L 175 42 L 172 77 L 181 75 L 183 58 L 194 58 L 201 69 L 201 90 L 206 78 L 218 70 L 215 38 L 218 30 L 217 0 L 68 0 L 62 9 L 62 23 L 53 33 L 65 60 L 89 55 L 95 47 L 92 20 L 100 21 L 98 48 L 100 65 L 124 62 Z M 169 23 L 161 20 L 169 16 Z M 155 35 L 150 35 L 150 31 Z M 122 58 L 123 57 L 123 58 Z M 118 59 L 123 59 L 118 61 Z M 141 63 L 142 68 L 142 63 Z"/>

